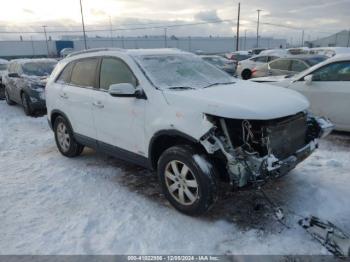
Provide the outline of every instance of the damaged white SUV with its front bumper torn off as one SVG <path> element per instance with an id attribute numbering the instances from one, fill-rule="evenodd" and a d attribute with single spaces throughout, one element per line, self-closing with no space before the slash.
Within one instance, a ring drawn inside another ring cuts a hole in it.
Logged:
<path id="1" fill-rule="evenodd" d="M 63 155 L 87 146 L 157 170 L 188 215 L 214 204 L 220 181 L 242 188 L 285 175 L 332 130 L 299 93 L 173 49 L 72 54 L 52 73 L 46 101 Z"/>

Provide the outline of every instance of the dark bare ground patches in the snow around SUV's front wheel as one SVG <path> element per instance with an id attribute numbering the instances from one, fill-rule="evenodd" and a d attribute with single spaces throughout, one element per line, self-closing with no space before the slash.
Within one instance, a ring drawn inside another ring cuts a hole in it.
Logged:
<path id="1" fill-rule="evenodd" d="M 104 165 L 113 166 L 122 171 L 120 175 L 112 178 L 113 183 L 122 185 L 131 192 L 140 194 L 166 208 L 173 208 L 162 194 L 155 172 L 113 157 L 101 155 L 101 158 Z M 284 188 L 287 187 L 290 192 L 293 184 L 288 183 L 288 177 L 283 177 L 274 183 L 267 184 L 263 189 L 269 198 L 274 202 L 278 200 L 278 204 L 281 204 L 288 201 L 288 195 L 283 193 Z M 241 230 L 256 229 L 264 233 L 279 233 L 286 228 L 275 218 L 273 207 L 257 189 L 220 192 L 213 209 L 198 219 L 208 222 L 225 220 Z"/>

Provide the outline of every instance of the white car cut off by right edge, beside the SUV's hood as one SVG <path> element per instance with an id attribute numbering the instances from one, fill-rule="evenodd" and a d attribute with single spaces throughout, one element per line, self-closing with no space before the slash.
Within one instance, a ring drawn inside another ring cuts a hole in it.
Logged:
<path id="1" fill-rule="evenodd" d="M 335 56 L 294 77 L 255 78 L 299 91 L 311 103 L 311 112 L 328 117 L 338 131 L 350 132 L 350 54 Z"/>

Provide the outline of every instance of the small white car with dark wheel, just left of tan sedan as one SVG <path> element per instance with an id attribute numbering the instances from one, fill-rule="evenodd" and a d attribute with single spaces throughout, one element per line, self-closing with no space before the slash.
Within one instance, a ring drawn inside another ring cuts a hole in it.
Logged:
<path id="1" fill-rule="evenodd" d="M 244 80 L 252 77 L 252 70 L 259 65 L 267 64 L 280 58 L 278 55 L 257 55 L 252 58 L 238 62 L 236 75 Z"/>

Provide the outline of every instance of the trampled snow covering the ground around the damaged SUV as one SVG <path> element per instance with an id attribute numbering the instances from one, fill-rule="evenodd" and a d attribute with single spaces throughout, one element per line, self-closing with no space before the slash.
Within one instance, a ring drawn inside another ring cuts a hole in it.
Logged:
<path id="1" fill-rule="evenodd" d="M 175 211 L 149 171 L 85 150 L 59 154 L 46 117 L 0 101 L 0 254 L 328 254 L 298 215 L 350 232 L 350 136 L 333 135 L 266 187 L 285 228 L 252 191 L 223 194 L 209 214 Z"/>

